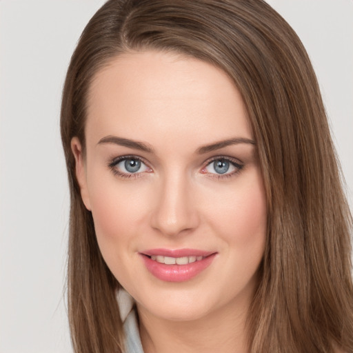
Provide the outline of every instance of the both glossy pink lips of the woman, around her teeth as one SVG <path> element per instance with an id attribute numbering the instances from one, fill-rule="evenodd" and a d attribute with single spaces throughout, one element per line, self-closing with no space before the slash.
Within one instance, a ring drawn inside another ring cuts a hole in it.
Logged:
<path id="1" fill-rule="evenodd" d="M 157 279 L 166 282 L 185 282 L 200 274 L 208 268 L 216 256 L 216 252 L 205 252 L 203 250 L 194 249 L 153 249 L 140 252 L 143 262 L 147 270 Z M 165 265 L 150 259 L 151 255 L 183 257 L 183 256 L 205 256 L 200 261 L 187 263 L 185 265 Z"/>

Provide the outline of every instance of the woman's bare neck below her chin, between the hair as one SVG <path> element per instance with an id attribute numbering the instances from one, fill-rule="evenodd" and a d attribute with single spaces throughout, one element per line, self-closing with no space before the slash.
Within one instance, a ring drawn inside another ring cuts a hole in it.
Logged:
<path id="1" fill-rule="evenodd" d="M 245 321 L 249 305 L 228 303 L 192 321 L 171 321 L 137 307 L 145 353 L 248 353 Z M 243 303 L 244 304 L 244 303 Z"/>

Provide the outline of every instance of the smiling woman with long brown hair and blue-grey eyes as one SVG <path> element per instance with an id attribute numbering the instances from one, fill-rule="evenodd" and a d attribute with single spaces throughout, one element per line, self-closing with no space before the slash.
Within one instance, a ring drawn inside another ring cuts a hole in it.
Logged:
<path id="1" fill-rule="evenodd" d="M 76 352 L 352 352 L 352 219 L 312 66 L 266 3 L 108 1 L 61 134 Z"/>

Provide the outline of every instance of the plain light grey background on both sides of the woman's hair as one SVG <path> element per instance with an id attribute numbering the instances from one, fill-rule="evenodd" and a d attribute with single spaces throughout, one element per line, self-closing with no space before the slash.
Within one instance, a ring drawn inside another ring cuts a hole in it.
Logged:
<path id="1" fill-rule="evenodd" d="M 269 2 L 312 58 L 352 205 L 353 1 Z M 75 43 L 102 3 L 0 0 L 0 353 L 72 352 L 59 105 Z"/>

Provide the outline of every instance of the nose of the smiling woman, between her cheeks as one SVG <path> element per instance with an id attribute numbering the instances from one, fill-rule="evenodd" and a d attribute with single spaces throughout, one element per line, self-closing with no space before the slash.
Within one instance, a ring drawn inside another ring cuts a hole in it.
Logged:
<path id="1" fill-rule="evenodd" d="M 152 213 L 152 228 L 166 236 L 187 234 L 199 225 L 199 213 L 192 185 L 186 177 L 165 177 Z"/>

